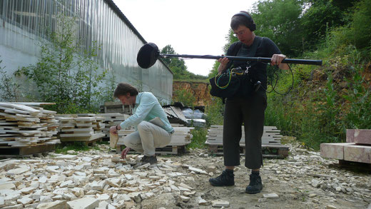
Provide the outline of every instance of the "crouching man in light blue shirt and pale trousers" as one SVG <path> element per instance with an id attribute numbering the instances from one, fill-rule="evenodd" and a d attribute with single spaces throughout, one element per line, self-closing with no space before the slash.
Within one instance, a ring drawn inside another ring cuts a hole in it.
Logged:
<path id="1" fill-rule="evenodd" d="M 174 128 L 157 98 L 151 92 L 139 93 L 128 83 L 118 83 L 113 96 L 123 104 L 133 105 L 133 115 L 119 126 L 111 126 L 110 132 L 117 134 L 118 130 L 129 126 L 136 128 L 135 132 L 123 139 L 126 148 L 123 149 L 121 158 L 126 158 L 128 151 L 134 149 L 143 153 L 142 163 L 157 163 L 155 148 L 167 146 L 174 133 Z"/>

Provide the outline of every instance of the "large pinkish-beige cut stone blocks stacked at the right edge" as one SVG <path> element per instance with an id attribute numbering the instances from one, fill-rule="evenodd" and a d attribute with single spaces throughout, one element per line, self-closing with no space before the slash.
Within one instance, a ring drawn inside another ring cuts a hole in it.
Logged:
<path id="1" fill-rule="evenodd" d="M 371 163 L 371 130 L 347 129 L 346 143 L 322 143 L 321 156 L 358 163 Z"/>

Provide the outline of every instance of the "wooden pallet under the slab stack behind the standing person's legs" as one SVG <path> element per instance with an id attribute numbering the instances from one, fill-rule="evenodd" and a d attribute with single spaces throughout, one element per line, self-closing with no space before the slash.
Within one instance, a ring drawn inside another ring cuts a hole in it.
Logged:
<path id="1" fill-rule="evenodd" d="M 208 144 L 208 151 L 217 156 L 223 156 L 222 144 Z M 285 158 L 288 156 L 289 147 L 285 145 L 262 145 L 263 158 Z M 245 147 L 240 146 L 240 156 L 245 156 Z"/>

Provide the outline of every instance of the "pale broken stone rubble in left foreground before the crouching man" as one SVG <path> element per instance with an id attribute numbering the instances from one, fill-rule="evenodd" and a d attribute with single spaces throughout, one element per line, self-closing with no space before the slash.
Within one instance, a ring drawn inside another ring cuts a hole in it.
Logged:
<path id="1" fill-rule="evenodd" d="M 123 160 L 99 151 L 68 153 L 1 162 L 0 207 L 131 208 L 161 193 L 188 202 L 200 197 L 184 182 L 193 181 L 193 175 L 209 175 L 168 158 L 160 158 L 156 165 L 141 165 L 140 155 Z M 200 198 L 200 204 L 203 201 Z"/>

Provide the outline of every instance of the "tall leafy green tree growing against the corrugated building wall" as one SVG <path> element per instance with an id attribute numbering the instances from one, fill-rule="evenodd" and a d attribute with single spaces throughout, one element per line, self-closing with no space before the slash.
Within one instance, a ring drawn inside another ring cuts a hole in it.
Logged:
<path id="1" fill-rule="evenodd" d="M 97 88 L 106 75 L 106 71 L 98 73 L 93 59 L 98 46 L 93 43 L 83 49 L 75 24 L 76 18 L 60 14 L 56 31 L 41 45 L 39 61 L 16 72 L 34 81 L 41 101 L 55 102 L 52 108 L 59 113 L 97 111 L 94 102 L 101 94 Z"/>

